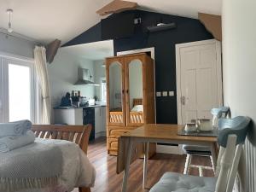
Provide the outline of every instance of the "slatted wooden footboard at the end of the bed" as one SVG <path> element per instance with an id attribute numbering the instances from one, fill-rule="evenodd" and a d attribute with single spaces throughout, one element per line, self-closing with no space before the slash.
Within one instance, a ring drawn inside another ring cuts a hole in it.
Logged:
<path id="1" fill-rule="evenodd" d="M 32 131 L 39 138 L 76 143 L 87 154 L 91 125 L 32 125 Z M 79 192 L 90 192 L 90 188 L 79 187 Z"/>

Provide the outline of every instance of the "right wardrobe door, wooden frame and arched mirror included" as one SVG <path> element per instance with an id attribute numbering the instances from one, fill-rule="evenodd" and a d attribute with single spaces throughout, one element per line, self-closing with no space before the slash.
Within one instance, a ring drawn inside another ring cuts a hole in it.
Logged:
<path id="1" fill-rule="evenodd" d="M 127 125 L 143 125 L 143 57 L 125 58 L 125 76 Z"/>

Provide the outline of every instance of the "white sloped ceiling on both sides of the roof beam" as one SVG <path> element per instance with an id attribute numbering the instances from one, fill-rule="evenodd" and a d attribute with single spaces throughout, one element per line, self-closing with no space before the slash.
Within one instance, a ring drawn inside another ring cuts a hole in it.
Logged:
<path id="1" fill-rule="evenodd" d="M 15 32 L 41 43 L 75 38 L 101 20 L 96 10 L 112 0 L 0 0 L 0 27 L 7 28 L 6 9 L 14 9 Z M 130 0 L 142 9 L 197 18 L 198 12 L 221 14 L 222 0 Z"/>

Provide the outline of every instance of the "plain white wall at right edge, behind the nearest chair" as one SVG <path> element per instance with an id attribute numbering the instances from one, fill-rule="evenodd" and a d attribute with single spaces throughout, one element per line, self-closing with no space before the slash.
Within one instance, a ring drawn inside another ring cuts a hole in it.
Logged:
<path id="1" fill-rule="evenodd" d="M 224 104 L 231 115 L 247 115 L 253 129 L 242 156 L 243 192 L 256 191 L 256 1 L 223 1 Z M 246 164 L 247 162 L 247 164 Z M 246 189 L 247 188 L 247 189 Z"/>

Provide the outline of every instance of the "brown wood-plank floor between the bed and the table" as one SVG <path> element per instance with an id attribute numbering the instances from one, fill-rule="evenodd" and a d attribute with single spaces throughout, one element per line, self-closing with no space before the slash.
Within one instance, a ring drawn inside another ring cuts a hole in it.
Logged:
<path id="1" fill-rule="evenodd" d="M 96 184 L 92 192 L 120 192 L 123 173 L 116 174 L 116 157 L 109 156 L 106 150 L 106 139 L 99 138 L 90 143 L 88 148 L 88 158 L 96 167 Z M 183 172 L 185 155 L 175 154 L 155 154 L 152 160 L 148 160 L 148 183 L 150 189 L 164 172 Z M 207 157 L 193 157 L 192 164 L 210 166 Z M 204 176 L 212 177 L 213 172 L 204 170 Z M 199 175 L 198 170 L 191 168 L 191 175 Z M 143 181 L 143 160 L 137 160 L 131 165 L 130 177 L 128 181 L 129 192 L 142 192 Z M 73 190 L 77 192 L 78 189 Z"/>

